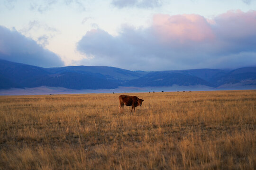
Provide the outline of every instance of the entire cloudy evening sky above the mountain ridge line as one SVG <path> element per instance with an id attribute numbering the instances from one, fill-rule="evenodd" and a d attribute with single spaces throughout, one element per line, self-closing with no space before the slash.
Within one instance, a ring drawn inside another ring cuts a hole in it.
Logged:
<path id="1" fill-rule="evenodd" d="M 0 0 L 0 59 L 145 71 L 256 66 L 256 0 Z"/>

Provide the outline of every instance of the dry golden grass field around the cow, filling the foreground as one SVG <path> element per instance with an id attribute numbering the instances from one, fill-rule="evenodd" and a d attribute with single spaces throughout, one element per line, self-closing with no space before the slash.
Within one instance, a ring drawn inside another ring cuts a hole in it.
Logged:
<path id="1" fill-rule="evenodd" d="M 0 170 L 255 170 L 256 90 L 0 96 Z"/>

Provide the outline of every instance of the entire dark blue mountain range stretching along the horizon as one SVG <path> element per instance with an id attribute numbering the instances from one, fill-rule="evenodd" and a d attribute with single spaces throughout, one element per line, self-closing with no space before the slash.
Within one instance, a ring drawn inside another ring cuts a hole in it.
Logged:
<path id="1" fill-rule="evenodd" d="M 0 89 L 39 86 L 68 89 L 110 89 L 118 86 L 256 87 L 256 67 L 190 69 L 170 71 L 130 71 L 107 66 L 68 66 L 41 68 L 0 59 Z"/>

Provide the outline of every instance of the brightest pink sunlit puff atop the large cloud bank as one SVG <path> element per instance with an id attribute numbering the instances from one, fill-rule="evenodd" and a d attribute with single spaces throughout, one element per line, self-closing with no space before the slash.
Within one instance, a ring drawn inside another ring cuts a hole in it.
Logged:
<path id="1" fill-rule="evenodd" d="M 214 39 L 215 35 L 207 20 L 195 14 L 164 15 L 153 17 L 153 30 L 164 42 L 202 42 Z"/>

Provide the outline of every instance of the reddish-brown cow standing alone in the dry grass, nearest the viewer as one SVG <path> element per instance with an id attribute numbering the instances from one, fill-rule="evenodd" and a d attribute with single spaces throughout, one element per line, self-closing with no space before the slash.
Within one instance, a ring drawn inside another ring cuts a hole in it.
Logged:
<path id="1" fill-rule="evenodd" d="M 143 99 L 137 98 L 137 96 L 128 96 L 128 95 L 120 95 L 119 96 L 119 112 L 121 112 L 121 109 L 124 108 L 124 105 L 126 106 L 132 106 L 132 110 L 135 111 L 135 107 L 141 106 Z"/>

